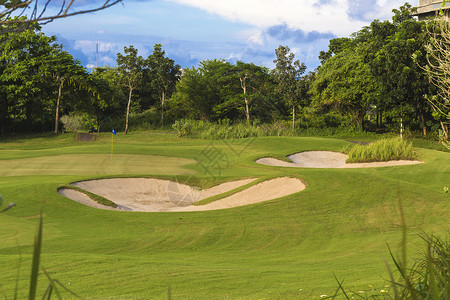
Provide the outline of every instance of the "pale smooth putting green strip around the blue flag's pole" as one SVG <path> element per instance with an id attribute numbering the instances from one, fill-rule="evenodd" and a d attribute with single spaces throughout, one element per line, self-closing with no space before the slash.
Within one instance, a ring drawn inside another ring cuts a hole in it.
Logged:
<path id="1" fill-rule="evenodd" d="M 191 174 L 187 158 L 115 154 L 65 154 L 0 161 L 0 176 Z"/>

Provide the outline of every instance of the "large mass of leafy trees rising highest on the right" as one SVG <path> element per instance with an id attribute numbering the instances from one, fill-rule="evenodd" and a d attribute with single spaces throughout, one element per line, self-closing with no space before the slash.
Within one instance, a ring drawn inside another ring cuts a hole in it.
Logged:
<path id="1" fill-rule="evenodd" d="M 370 106 L 378 126 L 383 116 L 388 121 L 402 117 L 425 135 L 432 121 L 425 96 L 433 89 L 412 58 L 427 43 L 425 24 L 412 17 L 412 10 L 405 4 L 393 11 L 392 22 L 375 20 L 349 39 L 331 40 L 310 91 L 314 103 L 333 103 L 359 123 Z"/>

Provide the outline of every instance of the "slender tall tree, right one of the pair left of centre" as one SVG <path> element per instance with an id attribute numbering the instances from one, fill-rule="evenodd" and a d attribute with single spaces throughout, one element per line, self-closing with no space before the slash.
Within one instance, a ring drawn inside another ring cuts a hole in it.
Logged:
<path id="1" fill-rule="evenodd" d="M 147 58 L 152 85 L 159 92 L 161 99 L 161 125 L 164 125 L 164 105 L 166 98 L 175 90 L 175 85 L 180 76 L 180 66 L 175 61 L 165 57 L 165 51 L 161 44 L 155 44 L 153 53 Z"/>

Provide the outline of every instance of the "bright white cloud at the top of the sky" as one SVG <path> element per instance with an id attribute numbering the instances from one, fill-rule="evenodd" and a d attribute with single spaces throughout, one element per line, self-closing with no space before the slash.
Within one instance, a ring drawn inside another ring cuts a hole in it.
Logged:
<path id="1" fill-rule="evenodd" d="M 288 24 L 291 28 L 306 32 L 317 31 L 348 36 L 367 25 L 359 19 L 351 18 L 349 11 L 352 0 L 167 0 L 183 5 L 194 6 L 211 14 L 233 22 L 241 22 L 267 28 L 278 24 Z M 367 1 L 369 15 L 377 19 L 390 18 L 391 10 L 404 3 L 404 0 Z M 373 14 L 371 13 L 373 11 Z M 253 40 L 260 41 L 257 37 Z"/>

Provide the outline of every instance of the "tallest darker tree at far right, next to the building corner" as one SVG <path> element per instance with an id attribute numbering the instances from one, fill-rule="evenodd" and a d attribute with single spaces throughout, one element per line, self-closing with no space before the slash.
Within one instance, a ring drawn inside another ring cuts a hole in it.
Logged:
<path id="1" fill-rule="evenodd" d="M 424 23 L 411 15 L 411 5 L 393 10 L 390 35 L 384 37 L 373 58 L 368 61 L 373 76 L 381 87 L 378 109 L 389 110 L 410 121 L 421 123 L 427 134 L 427 119 L 431 118 L 425 95 L 433 93 L 424 72 L 413 60 L 414 53 L 424 52 L 427 36 Z M 374 32 L 374 34 L 376 34 Z M 370 51 L 370 50 L 369 50 Z M 421 57 L 421 63 L 425 63 Z"/>

